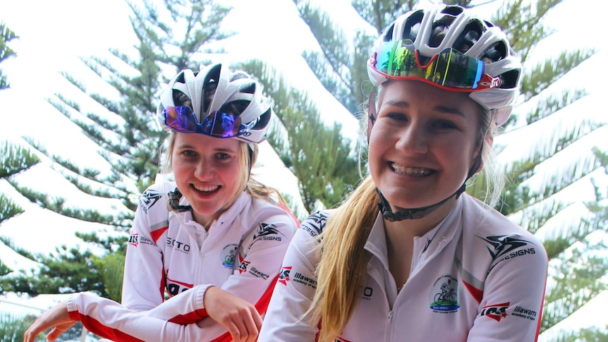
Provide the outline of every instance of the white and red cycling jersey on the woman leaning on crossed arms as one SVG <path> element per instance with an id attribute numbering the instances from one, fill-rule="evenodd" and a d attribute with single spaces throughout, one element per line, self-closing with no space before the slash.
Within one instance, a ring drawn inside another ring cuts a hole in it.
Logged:
<path id="1" fill-rule="evenodd" d="M 243 192 L 205 231 L 190 211 L 169 211 L 164 189 L 175 185 L 152 185 L 140 197 L 122 304 L 78 293 L 68 311 L 114 341 L 230 341 L 226 329 L 207 318 L 205 291 L 217 286 L 263 314 L 298 220 L 272 200 Z M 185 197 L 180 204 L 188 205 Z"/>

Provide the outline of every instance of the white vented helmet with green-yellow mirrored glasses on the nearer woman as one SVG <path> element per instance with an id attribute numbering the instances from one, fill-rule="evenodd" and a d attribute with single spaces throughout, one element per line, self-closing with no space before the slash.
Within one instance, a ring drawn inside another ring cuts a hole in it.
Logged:
<path id="1" fill-rule="evenodd" d="M 388 25 L 367 62 L 375 86 L 413 78 L 470 92 L 498 126 L 511 114 L 521 61 L 504 32 L 461 6 L 409 11 Z"/>

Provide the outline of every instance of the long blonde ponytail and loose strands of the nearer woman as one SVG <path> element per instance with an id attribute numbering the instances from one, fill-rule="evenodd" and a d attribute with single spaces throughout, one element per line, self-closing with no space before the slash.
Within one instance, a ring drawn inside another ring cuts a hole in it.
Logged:
<path id="1" fill-rule="evenodd" d="M 367 105 L 363 109 L 367 114 Z M 477 141 L 482 152 L 486 178 L 485 200 L 497 201 L 504 185 L 504 173 L 494 163 L 492 139 L 497 126 L 490 112 L 479 106 Z M 367 115 L 362 116 L 362 135 L 367 133 Z M 362 144 L 363 145 L 363 144 Z M 360 156 L 362 155 L 360 151 Z M 475 171 L 475 170 L 473 170 Z M 367 176 L 329 216 L 317 252 L 322 253 L 317 265 L 317 291 L 305 313 L 310 322 L 320 322 L 318 341 L 333 341 L 351 319 L 360 300 L 360 287 L 366 274 L 370 253 L 365 243 L 379 212 L 379 195 L 371 176 Z"/>

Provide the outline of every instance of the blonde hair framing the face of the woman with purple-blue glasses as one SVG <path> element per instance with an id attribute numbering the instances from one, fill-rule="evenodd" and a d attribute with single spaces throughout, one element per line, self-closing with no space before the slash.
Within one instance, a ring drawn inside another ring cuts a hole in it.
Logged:
<path id="1" fill-rule="evenodd" d="M 173 150 L 175 148 L 175 136 L 176 133 L 174 132 L 171 132 L 169 134 L 169 137 L 166 138 L 164 144 L 164 150 L 160 152 L 161 156 L 163 154 L 165 156 L 164 158 L 162 158 L 162 171 L 165 174 L 171 172 L 171 164 L 173 163 Z M 239 147 L 241 149 L 241 156 L 239 157 L 238 164 L 241 166 L 241 168 L 239 169 L 238 176 L 236 178 L 236 186 L 234 187 L 234 193 L 227 207 L 230 207 L 233 202 L 236 201 L 236 198 L 238 197 L 238 195 L 241 195 L 241 192 L 243 192 L 243 190 L 245 190 L 251 197 L 260 198 L 262 200 L 270 200 L 272 198 L 276 202 L 283 204 L 284 207 L 288 207 L 287 202 L 278 190 L 264 185 L 253 179 L 253 177 L 251 177 L 252 166 L 255 165 L 255 161 L 257 160 L 257 144 L 248 144 L 247 142 L 239 141 Z M 168 190 L 172 191 L 174 189 Z M 164 193 L 167 193 L 167 191 L 164 191 Z"/>

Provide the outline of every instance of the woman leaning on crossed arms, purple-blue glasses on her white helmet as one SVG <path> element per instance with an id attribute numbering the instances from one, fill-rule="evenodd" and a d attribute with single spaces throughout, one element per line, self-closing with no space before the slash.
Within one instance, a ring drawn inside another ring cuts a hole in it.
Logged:
<path id="1" fill-rule="evenodd" d="M 54 340 L 76 321 L 113 341 L 255 341 L 298 221 L 251 178 L 272 115 L 259 83 L 213 64 L 161 95 L 174 182 L 140 197 L 121 304 L 78 293 L 25 333 Z M 167 298 L 169 298 L 167 300 Z"/>

